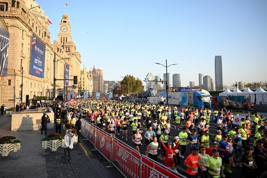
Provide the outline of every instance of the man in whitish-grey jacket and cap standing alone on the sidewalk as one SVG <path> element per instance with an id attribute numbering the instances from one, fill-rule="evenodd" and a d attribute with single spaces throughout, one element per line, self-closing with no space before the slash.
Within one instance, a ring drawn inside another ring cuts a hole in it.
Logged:
<path id="1" fill-rule="evenodd" d="M 64 158 L 66 164 L 71 163 L 71 149 L 73 149 L 75 134 L 71 133 L 71 129 L 64 136 Z"/>

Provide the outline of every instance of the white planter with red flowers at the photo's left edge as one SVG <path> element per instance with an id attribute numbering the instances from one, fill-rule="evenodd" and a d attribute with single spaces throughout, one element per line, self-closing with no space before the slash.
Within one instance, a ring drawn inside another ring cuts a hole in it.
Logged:
<path id="1" fill-rule="evenodd" d="M 21 141 L 14 139 L 16 139 L 14 136 L 4 136 L 0 138 L 0 153 L 2 156 L 8 156 L 11 151 L 17 152 L 21 149 Z"/>

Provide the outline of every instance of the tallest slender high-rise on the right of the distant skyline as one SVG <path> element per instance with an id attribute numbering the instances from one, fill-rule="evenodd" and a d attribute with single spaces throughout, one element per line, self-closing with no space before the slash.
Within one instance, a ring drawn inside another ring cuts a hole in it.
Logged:
<path id="1" fill-rule="evenodd" d="M 215 87 L 216 91 L 222 91 L 222 56 L 215 56 Z"/>

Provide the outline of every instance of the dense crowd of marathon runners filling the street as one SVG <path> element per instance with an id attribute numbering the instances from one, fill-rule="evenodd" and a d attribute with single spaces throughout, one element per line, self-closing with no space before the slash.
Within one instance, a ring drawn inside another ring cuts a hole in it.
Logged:
<path id="1" fill-rule="evenodd" d="M 164 165 L 177 171 L 182 163 L 189 177 L 230 177 L 231 167 L 241 167 L 241 177 L 267 177 L 267 132 L 263 117 L 257 112 L 233 125 L 230 111 L 216 110 L 211 118 L 207 108 L 132 103 L 110 99 L 77 99 L 76 104 L 58 102 L 63 116 L 75 125 L 73 114 L 95 124 L 114 137 L 134 142 L 135 149 L 143 145 L 142 153 L 154 161 L 158 155 Z M 210 140 L 209 123 L 217 124 L 217 133 Z M 175 125 L 174 127 L 172 125 Z M 180 132 L 171 140 L 171 128 Z M 122 131 L 121 131 L 122 130 Z M 255 137 L 251 138 L 251 133 Z M 145 141 L 144 141 L 145 140 Z M 254 141 L 253 146 L 249 144 Z M 127 142 L 126 142 L 127 143 Z M 184 155 L 187 147 L 191 154 Z"/>

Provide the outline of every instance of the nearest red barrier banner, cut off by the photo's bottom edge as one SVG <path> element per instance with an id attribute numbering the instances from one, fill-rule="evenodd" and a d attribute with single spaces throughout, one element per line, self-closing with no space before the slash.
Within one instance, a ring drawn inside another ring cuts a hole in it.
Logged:
<path id="1" fill-rule="evenodd" d="M 153 162 L 149 160 L 147 157 L 141 157 L 141 177 L 147 178 L 180 178 L 176 174 L 172 173 L 168 169 L 163 168 L 161 165 L 157 164 L 157 162 Z M 146 165 L 147 166 L 146 166 Z M 155 171 L 157 170 L 157 171 Z"/>

